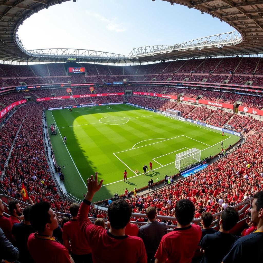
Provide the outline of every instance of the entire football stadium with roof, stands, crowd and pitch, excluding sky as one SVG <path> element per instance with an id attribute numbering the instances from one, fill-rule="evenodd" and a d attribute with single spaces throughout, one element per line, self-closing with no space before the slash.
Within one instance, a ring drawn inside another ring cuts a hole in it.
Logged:
<path id="1" fill-rule="evenodd" d="M 159 1 L 233 30 L 27 50 L 27 19 L 79 1 L 0 1 L 1 260 L 262 258 L 263 1 Z"/>

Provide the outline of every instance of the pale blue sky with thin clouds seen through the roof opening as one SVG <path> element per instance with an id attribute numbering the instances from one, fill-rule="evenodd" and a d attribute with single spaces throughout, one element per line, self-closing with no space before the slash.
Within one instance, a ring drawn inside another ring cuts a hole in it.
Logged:
<path id="1" fill-rule="evenodd" d="M 24 47 L 82 48 L 128 55 L 147 45 L 173 45 L 233 28 L 193 8 L 156 0 L 77 0 L 28 18 Z"/>

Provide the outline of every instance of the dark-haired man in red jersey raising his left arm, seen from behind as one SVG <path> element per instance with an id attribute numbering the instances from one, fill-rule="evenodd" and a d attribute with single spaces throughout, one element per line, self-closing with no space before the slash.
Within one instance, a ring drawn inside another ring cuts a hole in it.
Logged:
<path id="1" fill-rule="evenodd" d="M 80 205 L 78 222 L 92 249 L 94 263 L 122 262 L 125 258 L 129 262 L 146 263 L 147 256 L 143 240 L 136 236 L 125 235 L 125 227 L 130 221 L 131 207 L 123 199 L 110 204 L 108 208 L 108 221 L 110 229 L 95 226 L 88 219 L 88 211 L 94 194 L 99 191 L 103 180 L 98 184 L 98 173 L 87 180 L 87 194 Z M 102 253 L 103 251 L 103 253 Z M 109 257 L 109 255 L 114 255 Z"/>

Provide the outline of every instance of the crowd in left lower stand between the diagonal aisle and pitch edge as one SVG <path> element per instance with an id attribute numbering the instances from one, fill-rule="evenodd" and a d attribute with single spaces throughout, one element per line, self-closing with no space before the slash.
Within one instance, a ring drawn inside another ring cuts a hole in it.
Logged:
<path id="1" fill-rule="evenodd" d="M 53 210 L 68 213 L 70 204 L 58 194 L 45 156 L 42 135 L 43 107 L 32 102 L 21 107 L 21 110 L 28 114 L 17 135 L 3 180 L 0 182 L 1 188 L 6 195 L 22 200 L 20 193 L 24 183 L 34 203 L 49 201 Z"/>

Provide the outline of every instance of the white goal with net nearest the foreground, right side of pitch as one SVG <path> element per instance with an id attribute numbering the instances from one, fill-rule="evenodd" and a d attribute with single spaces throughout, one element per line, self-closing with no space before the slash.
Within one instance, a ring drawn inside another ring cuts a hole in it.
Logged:
<path id="1" fill-rule="evenodd" d="M 180 170 L 193 163 L 196 163 L 196 161 L 200 162 L 200 159 L 201 159 L 201 151 L 196 148 L 183 151 L 182 153 L 178 153 L 175 156 L 175 168 Z"/>

